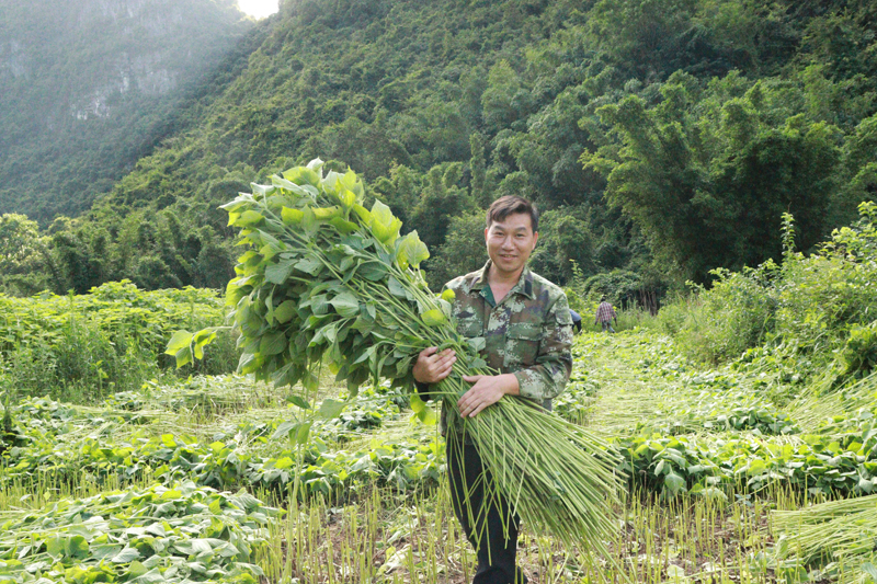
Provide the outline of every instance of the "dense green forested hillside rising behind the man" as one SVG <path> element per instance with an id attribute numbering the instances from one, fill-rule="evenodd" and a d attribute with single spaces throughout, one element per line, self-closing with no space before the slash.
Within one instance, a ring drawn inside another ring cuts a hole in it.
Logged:
<path id="1" fill-rule="evenodd" d="M 549 278 L 616 301 L 706 284 L 778 257 L 783 213 L 806 251 L 874 198 L 875 19 L 864 0 L 282 2 L 88 213 L 5 216 L 0 273 L 13 294 L 221 287 L 217 206 L 320 157 L 418 230 L 433 285 L 480 265 L 482 209 L 510 193 L 544 211 Z"/>

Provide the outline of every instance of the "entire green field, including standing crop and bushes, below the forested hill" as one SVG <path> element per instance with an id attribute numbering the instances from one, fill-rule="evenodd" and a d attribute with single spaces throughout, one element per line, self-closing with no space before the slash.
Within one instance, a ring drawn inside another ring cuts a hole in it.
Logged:
<path id="1" fill-rule="evenodd" d="M 629 310 L 620 333 L 577 337 L 555 411 L 605 440 L 625 489 L 606 503 L 606 554 L 525 522 L 533 582 L 877 582 L 877 207 L 862 210 L 818 253 L 789 243 L 782 265 L 719 271 L 657 317 Z M 381 371 L 360 367 L 363 383 L 271 369 L 299 337 L 258 337 L 293 318 L 269 291 L 266 323 L 250 322 L 261 304 L 237 312 L 237 343 L 210 291 L 0 296 L 0 582 L 471 580 L 435 415 L 398 382 L 397 347 L 381 341 L 377 359 L 353 343 L 351 365 Z M 342 297 L 300 299 L 297 318 L 353 319 Z M 309 329 L 309 362 L 346 358 L 351 337 L 329 327 Z M 229 373 L 236 344 L 254 376 Z"/>

